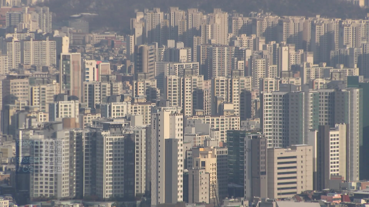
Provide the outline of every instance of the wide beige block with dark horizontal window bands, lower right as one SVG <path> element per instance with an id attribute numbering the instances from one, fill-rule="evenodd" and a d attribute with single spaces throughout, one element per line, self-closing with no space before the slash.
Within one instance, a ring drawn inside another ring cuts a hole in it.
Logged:
<path id="1" fill-rule="evenodd" d="M 268 148 L 268 198 L 283 199 L 313 190 L 313 146 Z"/>

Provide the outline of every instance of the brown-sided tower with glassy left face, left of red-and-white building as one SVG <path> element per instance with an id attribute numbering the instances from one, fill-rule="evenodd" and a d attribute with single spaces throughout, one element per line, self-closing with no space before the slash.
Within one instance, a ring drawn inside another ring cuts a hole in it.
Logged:
<path id="1" fill-rule="evenodd" d="M 61 53 L 60 90 L 82 100 L 82 71 L 80 53 Z"/>

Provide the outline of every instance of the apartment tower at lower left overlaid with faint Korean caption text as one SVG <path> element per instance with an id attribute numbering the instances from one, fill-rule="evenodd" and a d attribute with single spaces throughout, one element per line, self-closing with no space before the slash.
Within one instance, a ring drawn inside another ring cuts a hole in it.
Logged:
<path id="1" fill-rule="evenodd" d="M 33 162 L 34 171 L 30 172 L 31 198 L 72 198 L 83 190 L 76 186 L 76 181 L 82 179 L 80 165 L 76 163 L 82 161 L 78 160 L 81 149 L 76 145 L 77 141 L 82 141 L 82 130 L 62 129 L 61 125 L 45 124 L 44 127 L 49 127 L 48 131 L 43 130 L 43 134 L 36 139 L 30 138 L 37 143 L 29 146 L 30 156 L 40 160 Z M 39 147 L 44 150 L 39 151 Z"/>

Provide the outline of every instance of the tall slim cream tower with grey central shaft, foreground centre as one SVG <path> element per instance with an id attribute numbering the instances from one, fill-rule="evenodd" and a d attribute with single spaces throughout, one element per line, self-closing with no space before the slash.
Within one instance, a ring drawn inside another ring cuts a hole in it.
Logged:
<path id="1" fill-rule="evenodd" d="M 183 200 L 183 114 L 156 108 L 151 114 L 151 205 Z"/>

